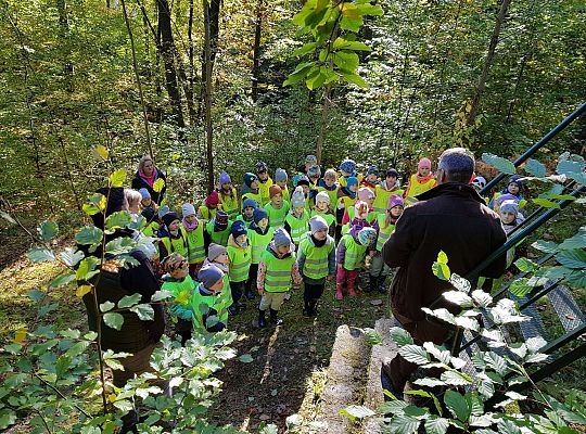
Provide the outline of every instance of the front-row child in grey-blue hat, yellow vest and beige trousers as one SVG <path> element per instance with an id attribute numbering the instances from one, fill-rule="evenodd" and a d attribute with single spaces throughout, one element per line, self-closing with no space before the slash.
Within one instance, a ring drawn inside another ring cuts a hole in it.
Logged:
<path id="1" fill-rule="evenodd" d="M 283 228 L 277 228 L 272 241 L 258 264 L 256 288 L 260 294 L 258 306 L 258 327 L 267 327 L 265 314 L 270 312 L 272 323 L 279 326 L 283 321 L 278 317 L 285 295 L 291 290 L 291 280 L 301 284 L 302 277 L 295 261 L 294 245 L 291 237 Z"/>

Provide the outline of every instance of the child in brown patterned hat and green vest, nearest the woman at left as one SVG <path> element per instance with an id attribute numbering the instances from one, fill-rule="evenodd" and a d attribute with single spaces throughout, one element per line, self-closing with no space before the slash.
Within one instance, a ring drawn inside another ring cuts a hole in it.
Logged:
<path id="1" fill-rule="evenodd" d="M 191 339 L 192 310 L 189 302 L 195 291 L 195 282 L 189 276 L 189 263 L 184 256 L 177 252 L 170 253 L 162 261 L 163 284 L 161 290 L 173 293 L 173 302 L 169 304 L 171 319 L 175 322 L 175 332 L 181 336 L 181 345 Z"/>

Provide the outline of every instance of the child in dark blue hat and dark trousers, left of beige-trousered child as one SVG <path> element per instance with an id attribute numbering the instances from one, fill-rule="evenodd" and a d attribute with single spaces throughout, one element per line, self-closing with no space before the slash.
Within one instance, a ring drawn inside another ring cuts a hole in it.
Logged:
<path id="1" fill-rule="evenodd" d="M 249 280 L 249 271 L 252 264 L 252 246 L 249 242 L 247 229 L 244 221 L 237 220 L 230 229 L 228 239 L 228 258 L 230 268 L 228 277 L 230 278 L 230 291 L 237 312 L 244 309 L 246 305 L 242 302 L 242 295 Z"/>

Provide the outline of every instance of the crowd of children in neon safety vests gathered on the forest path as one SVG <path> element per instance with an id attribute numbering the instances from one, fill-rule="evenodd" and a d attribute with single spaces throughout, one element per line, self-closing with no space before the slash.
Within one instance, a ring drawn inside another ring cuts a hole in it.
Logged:
<path id="1" fill-rule="evenodd" d="M 256 292 L 260 328 L 267 327 L 267 310 L 269 321 L 281 323 L 282 304 L 302 283 L 306 317 L 317 315 L 327 281 L 335 280 L 336 299 L 345 292 L 356 296 L 356 279 L 364 268 L 369 271 L 364 291 L 385 292 L 391 270 L 382 259 L 383 245 L 404 207 L 432 189 L 435 178 L 429 158 L 419 162 L 402 189 L 393 168 L 379 179 L 375 166 L 359 175 L 356 163 L 345 159 L 339 171 L 330 168 L 322 176 L 317 158 L 308 155 L 292 191 L 288 182 L 285 170 L 277 169 L 271 179 L 259 162 L 255 173 L 244 174 L 238 194 L 222 173 L 203 204 L 183 204 L 181 216 L 168 206 L 157 207 L 146 190 L 138 192 L 140 201 L 129 209 L 138 214 L 142 208 L 142 232 L 156 239 L 163 290 L 173 293 L 171 314 L 183 341 L 192 323 L 208 331 L 227 327 L 228 315 L 238 315 Z M 476 177 L 471 183 L 480 190 L 486 181 Z M 506 228 L 520 218 L 521 188 L 513 177 L 491 201 Z M 133 196 L 136 203 L 138 195 Z"/>

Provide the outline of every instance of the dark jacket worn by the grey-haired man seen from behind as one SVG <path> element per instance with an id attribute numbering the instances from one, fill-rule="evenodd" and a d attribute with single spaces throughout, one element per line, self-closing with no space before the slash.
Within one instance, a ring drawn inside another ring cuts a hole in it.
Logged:
<path id="1" fill-rule="evenodd" d="M 421 308 L 450 286 L 432 272 L 440 251 L 447 254 L 451 272 L 463 277 L 507 241 L 498 215 L 470 186 L 446 182 L 418 199 L 405 209 L 382 251 L 390 267 L 400 267 L 391 288 L 393 311 L 412 321 L 424 320 Z M 502 255 L 481 275 L 498 278 L 505 268 Z"/>

